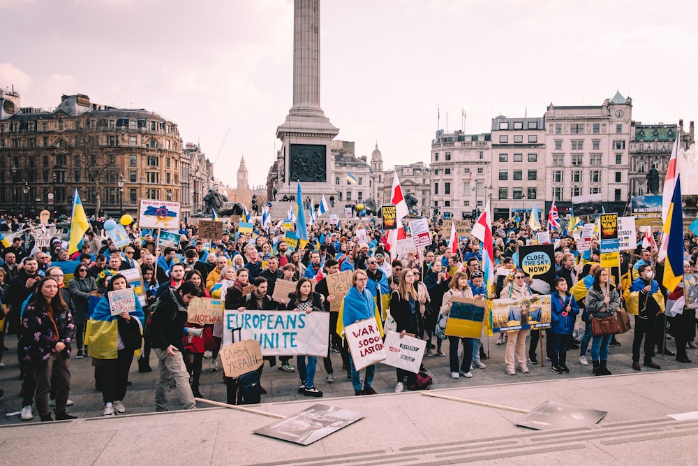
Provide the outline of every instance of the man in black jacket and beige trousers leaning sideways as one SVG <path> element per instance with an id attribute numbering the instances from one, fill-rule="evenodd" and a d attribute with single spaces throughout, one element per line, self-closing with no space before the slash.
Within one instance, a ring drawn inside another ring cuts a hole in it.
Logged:
<path id="1" fill-rule="evenodd" d="M 184 282 L 179 289 L 169 289 L 156 303 L 151 316 L 149 332 L 152 348 L 158 356 L 160 373 L 155 386 L 155 410 L 167 411 L 168 398 L 165 389 L 174 379 L 179 401 L 184 409 L 196 409 L 194 395 L 189 385 L 182 351 L 184 351 L 184 325 L 188 319 L 186 308 L 191 300 L 201 296 L 194 282 Z"/>

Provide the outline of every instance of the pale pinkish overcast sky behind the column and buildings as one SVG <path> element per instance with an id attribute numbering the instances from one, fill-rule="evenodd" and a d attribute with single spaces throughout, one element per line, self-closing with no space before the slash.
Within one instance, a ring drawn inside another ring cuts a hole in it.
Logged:
<path id="1" fill-rule="evenodd" d="M 696 1 L 322 0 L 320 11 L 322 108 L 357 155 L 378 143 L 385 168 L 429 163 L 438 108 L 449 131 L 464 109 L 467 133 L 616 90 L 636 121 L 688 129 L 698 116 Z M 292 106 L 292 0 L 0 0 L 0 17 L 0 87 L 23 106 L 80 92 L 155 110 L 223 182 L 235 187 L 242 155 L 251 184 L 266 182 Z"/>

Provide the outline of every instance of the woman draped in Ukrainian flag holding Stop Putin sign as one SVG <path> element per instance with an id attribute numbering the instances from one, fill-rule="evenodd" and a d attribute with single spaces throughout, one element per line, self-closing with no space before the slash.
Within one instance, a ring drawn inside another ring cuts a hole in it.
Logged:
<path id="1" fill-rule="evenodd" d="M 103 279 L 106 279 L 104 277 Z M 138 296 L 135 298 L 135 309 L 131 312 L 124 310 L 112 315 L 109 292 L 130 289 L 124 275 L 114 275 L 109 280 L 104 295 L 92 312 L 87 332 L 89 355 L 94 363 L 101 365 L 101 381 L 99 388 L 105 403 L 103 416 L 113 416 L 115 413 L 125 414 L 124 398 L 128 383 L 128 370 L 133 362 L 134 354 L 140 354 L 140 335 L 143 334 L 144 314 Z M 138 345 L 136 347 L 136 345 Z"/>

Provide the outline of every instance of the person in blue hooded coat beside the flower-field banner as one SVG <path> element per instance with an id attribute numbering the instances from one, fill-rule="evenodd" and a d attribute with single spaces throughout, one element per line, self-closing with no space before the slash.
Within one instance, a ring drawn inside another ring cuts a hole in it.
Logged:
<path id="1" fill-rule="evenodd" d="M 574 296 L 567 293 L 567 280 L 555 280 L 555 293 L 550 296 L 550 335 L 553 337 L 551 370 L 556 374 L 569 373 L 567 369 L 567 341 L 574 330 L 574 320 L 579 314 L 579 305 Z"/>

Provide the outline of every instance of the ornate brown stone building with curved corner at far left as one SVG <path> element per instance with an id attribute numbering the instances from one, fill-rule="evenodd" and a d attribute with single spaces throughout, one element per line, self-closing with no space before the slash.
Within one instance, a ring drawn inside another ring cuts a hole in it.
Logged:
<path id="1" fill-rule="evenodd" d="M 64 95 L 54 110 L 20 107 L 0 91 L 0 209 L 70 214 L 75 189 L 87 214 L 136 214 L 141 198 L 181 201 L 177 124 L 156 112 Z"/>

